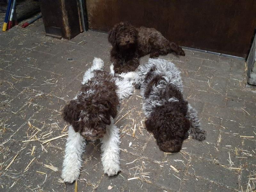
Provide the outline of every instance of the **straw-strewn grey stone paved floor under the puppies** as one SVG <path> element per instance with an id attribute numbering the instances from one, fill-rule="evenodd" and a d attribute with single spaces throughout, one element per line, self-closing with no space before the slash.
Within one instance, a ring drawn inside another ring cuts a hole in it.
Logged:
<path id="1" fill-rule="evenodd" d="M 60 111 L 94 57 L 108 70 L 110 49 L 107 34 L 95 31 L 70 41 L 45 37 L 42 20 L 0 32 L 1 192 L 75 190 L 60 178 L 67 138 Z M 143 126 L 135 90 L 116 117 L 129 112 L 117 124 L 122 171 L 104 175 L 99 142 L 88 143 L 78 191 L 255 190 L 256 92 L 246 87 L 244 60 L 191 50 L 162 58 L 182 71 L 184 95 L 198 110 L 207 139 L 188 139 L 179 153 L 161 152 Z"/>

